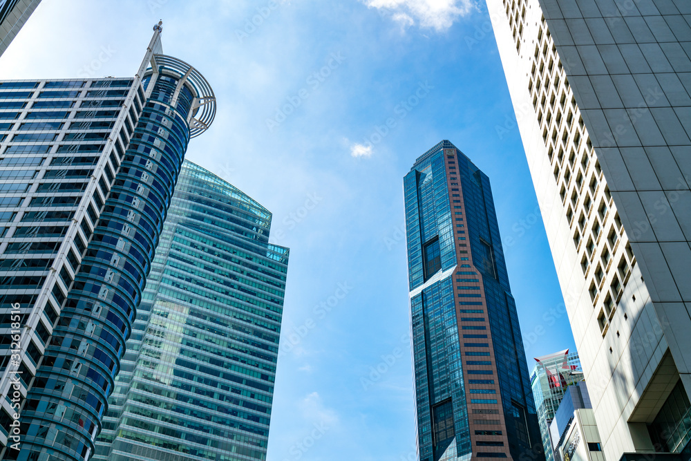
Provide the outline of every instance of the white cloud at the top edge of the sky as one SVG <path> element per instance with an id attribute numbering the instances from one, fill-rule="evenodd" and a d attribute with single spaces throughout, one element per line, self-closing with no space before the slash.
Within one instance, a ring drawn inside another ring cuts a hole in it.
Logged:
<path id="1" fill-rule="evenodd" d="M 437 32 L 451 27 L 453 21 L 476 9 L 473 0 L 364 0 L 369 8 L 388 10 L 395 21 L 413 26 L 415 19 L 422 28 Z"/>

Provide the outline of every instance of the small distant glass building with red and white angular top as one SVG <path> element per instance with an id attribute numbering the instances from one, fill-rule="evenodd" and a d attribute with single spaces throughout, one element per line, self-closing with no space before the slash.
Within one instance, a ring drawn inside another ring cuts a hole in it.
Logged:
<path id="1" fill-rule="evenodd" d="M 583 370 L 580 368 L 578 352 L 569 353 L 568 349 L 536 357 L 535 361 L 537 364 L 530 375 L 530 384 L 538 411 L 545 459 L 554 461 L 549 424 L 554 419 L 554 414 L 569 386 L 583 381 Z"/>

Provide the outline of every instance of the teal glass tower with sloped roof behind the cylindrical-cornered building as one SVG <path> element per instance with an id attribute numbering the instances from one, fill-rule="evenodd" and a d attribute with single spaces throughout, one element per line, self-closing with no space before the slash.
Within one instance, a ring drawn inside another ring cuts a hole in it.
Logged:
<path id="1" fill-rule="evenodd" d="M 94 460 L 265 460 L 288 250 L 185 161 Z"/>

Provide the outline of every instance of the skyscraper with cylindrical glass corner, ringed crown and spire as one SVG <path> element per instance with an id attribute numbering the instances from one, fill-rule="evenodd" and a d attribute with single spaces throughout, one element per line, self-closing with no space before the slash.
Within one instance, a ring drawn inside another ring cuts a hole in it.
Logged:
<path id="1" fill-rule="evenodd" d="M 214 119 L 154 29 L 133 78 L 0 82 L 2 459 L 92 457 L 184 152 Z"/>

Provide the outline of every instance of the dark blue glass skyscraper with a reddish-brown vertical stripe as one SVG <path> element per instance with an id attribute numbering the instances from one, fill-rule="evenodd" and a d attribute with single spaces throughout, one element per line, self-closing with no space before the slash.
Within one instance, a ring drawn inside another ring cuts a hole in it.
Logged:
<path id="1" fill-rule="evenodd" d="M 445 140 L 404 193 L 419 460 L 544 459 L 489 178 Z"/>

